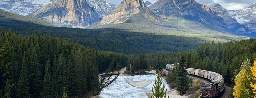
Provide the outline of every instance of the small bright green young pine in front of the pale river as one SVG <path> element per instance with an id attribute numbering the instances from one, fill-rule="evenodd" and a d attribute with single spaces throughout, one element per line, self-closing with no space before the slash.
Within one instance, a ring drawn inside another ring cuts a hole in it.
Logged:
<path id="1" fill-rule="evenodd" d="M 164 84 L 163 84 L 163 87 L 161 87 L 161 86 L 162 86 L 162 78 L 161 78 L 159 71 L 157 71 L 155 84 L 153 84 L 154 89 L 153 89 L 153 87 L 151 88 L 151 91 L 153 93 L 151 95 L 151 98 L 166 98 L 167 89 L 164 91 Z M 168 96 L 168 98 L 169 98 L 169 96 Z"/>

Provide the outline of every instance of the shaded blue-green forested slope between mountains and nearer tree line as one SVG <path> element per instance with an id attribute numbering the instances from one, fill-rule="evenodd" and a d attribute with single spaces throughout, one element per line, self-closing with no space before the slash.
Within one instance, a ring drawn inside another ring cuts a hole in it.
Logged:
<path id="1" fill-rule="evenodd" d="M 72 38 L 75 42 L 78 41 L 79 44 L 84 45 L 85 47 L 124 54 L 196 50 L 196 48 L 204 42 L 219 40 L 215 38 L 204 39 L 176 35 L 138 33 L 118 29 L 86 30 L 29 24 L 2 25 L 1 23 L 0 27 L 12 29 L 12 31 L 24 36 L 28 36 L 32 33 L 35 33 L 36 35 L 49 33 L 54 37 L 61 37 L 64 39 Z M 222 42 L 225 41 L 227 40 L 222 40 Z"/>

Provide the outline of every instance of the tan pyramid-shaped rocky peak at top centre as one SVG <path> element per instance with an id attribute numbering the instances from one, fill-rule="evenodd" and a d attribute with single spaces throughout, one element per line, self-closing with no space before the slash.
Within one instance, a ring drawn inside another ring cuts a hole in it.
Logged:
<path id="1" fill-rule="evenodd" d="M 140 16 L 133 17 L 136 14 Z M 140 18 L 139 18 L 140 17 Z M 136 21 L 130 18 L 139 18 Z M 151 10 L 149 10 L 143 0 L 123 0 L 119 6 L 112 11 L 110 14 L 106 15 L 100 24 L 118 24 L 127 22 L 137 22 L 140 19 L 148 20 L 159 20 L 159 16 L 155 15 Z"/>

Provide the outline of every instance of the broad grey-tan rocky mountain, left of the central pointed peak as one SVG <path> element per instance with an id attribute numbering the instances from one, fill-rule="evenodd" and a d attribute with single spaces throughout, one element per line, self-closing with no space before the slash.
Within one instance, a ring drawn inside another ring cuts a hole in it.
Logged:
<path id="1" fill-rule="evenodd" d="M 55 26 L 85 28 L 112 10 L 104 0 L 53 0 L 28 16 Z"/>

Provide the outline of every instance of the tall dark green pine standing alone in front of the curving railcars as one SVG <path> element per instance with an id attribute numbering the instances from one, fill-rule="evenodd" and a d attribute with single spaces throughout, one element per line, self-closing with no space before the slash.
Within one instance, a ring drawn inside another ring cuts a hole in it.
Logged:
<path id="1" fill-rule="evenodd" d="M 186 62 L 184 59 L 184 56 L 181 57 L 181 60 L 179 61 L 178 64 L 178 69 L 177 69 L 177 77 L 176 77 L 176 84 L 178 86 L 177 91 L 179 91 L 181 94 L 185 94 L 186 91 L 189 89 L 188 86 L 188 73 L 186 70 Z"/>

